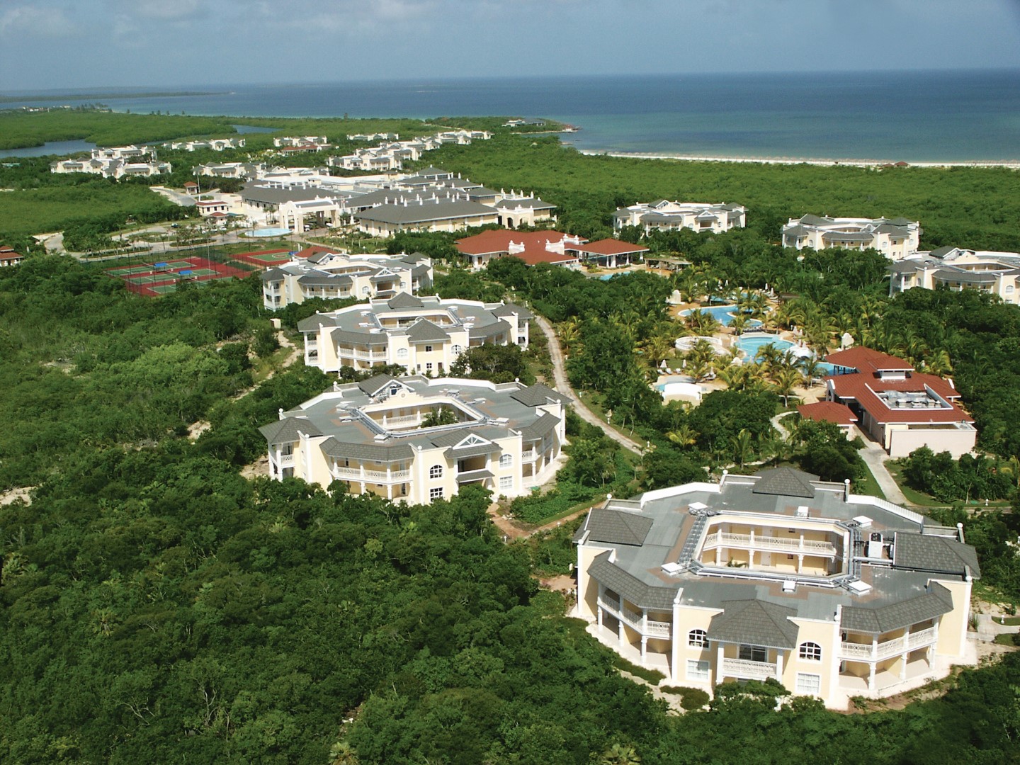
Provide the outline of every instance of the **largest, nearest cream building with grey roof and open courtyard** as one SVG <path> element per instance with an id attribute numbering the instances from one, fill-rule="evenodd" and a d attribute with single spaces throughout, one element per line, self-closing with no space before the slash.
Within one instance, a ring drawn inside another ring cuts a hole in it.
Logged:
<path id="1" fill-rule="evenodd" d="M 593 508 L 576 615 L 670 685 L 775 679 L 846 709 L 975 664 L 959 528 L 788 467 Z"/>

